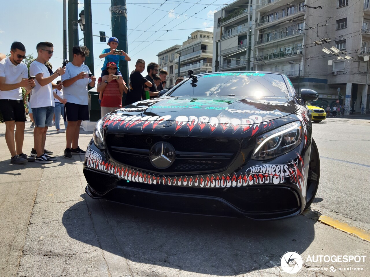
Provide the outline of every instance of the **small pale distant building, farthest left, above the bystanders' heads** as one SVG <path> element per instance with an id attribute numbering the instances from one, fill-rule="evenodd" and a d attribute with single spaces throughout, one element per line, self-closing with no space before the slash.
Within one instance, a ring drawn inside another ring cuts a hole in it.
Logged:
<path id="1" fill-rule="evenodd" d="M 179 48 L 181 48 L 181 45 L 176 44 L 157 54 L 159 68 L 164 69 L 165 71 L 168 72 L 166 78 L 167 88 L 175 84 L 177 78 L 177 71 L 175 70 L 175 59 L 178 58 L 176 50 Z"/>

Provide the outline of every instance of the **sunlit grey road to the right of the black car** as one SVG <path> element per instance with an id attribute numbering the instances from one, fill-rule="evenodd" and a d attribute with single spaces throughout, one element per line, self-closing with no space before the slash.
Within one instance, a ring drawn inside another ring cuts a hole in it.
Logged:
<path id="1" fill-rule="evenodd" d="M 312 209 L 370 230 L 370 116 L 313 124 L 320 186 Z"/>

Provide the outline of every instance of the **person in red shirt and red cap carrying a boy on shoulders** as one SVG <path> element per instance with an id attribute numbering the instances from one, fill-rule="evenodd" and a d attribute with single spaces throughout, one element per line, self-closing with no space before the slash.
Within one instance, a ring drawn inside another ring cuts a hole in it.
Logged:
<path id="1" fill-rule="evenodd" d="M 123 92 L 127 93 L 127 86 L 121 75 L 116 75 L 117 65 L 115 62 L 108 62 L 108 79 L 102 82 L 98 79 L 97 92 L 101 107 L 101 117 L 122 107 Z"/>

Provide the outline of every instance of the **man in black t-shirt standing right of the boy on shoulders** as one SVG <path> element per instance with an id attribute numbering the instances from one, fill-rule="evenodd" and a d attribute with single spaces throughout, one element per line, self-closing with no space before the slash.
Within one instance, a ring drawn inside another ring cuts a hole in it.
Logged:
<path id="1" fill-rule="evenodd" d="M 144 69 L 144 60 L 138 59 L 135 64 L 135 71 L 131 73 L 130 78 L 128 79 L 128 92 L 125 105 L 145 99 L 142 98 L 144 84 L 148 87 L 152 86 L 152 83 L 141 75 L 141 72 L 143 72 Z"/>

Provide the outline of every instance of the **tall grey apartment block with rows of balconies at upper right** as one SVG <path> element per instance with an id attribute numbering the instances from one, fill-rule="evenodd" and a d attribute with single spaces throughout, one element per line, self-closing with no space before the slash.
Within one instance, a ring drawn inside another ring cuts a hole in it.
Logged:
<path id="1" fill-rule="evenodd" d="M 219 66 L 214 71 L 246 69 L 248 51 L 241 50 L 249 48 L 243 41 L 249 22 L 253 70 L 281 72 L 296 90 L 316 90 L 319 99 L 313 105 L 333 107 L 339 98 L 346 114 L 365 113 L 370 100 L 369 1 L 256 0 L 243 12 L 249 2 L 234 1 L 215 13 L 213 59 Z"/>

